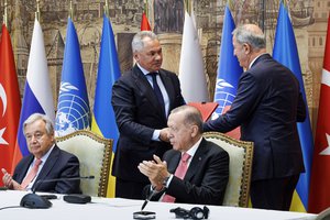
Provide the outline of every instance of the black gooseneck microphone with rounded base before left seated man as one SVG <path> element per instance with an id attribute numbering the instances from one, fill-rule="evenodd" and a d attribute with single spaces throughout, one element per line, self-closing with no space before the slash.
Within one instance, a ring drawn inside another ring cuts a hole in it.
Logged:
<path id="1" fill-rule="evenodd" d="M 35 194 L 37 187 L 43 183 L 52 183 L 52 182 L 59 182 L 59 180 L 72 182 L 72 180 L 94 179 L 94 178 L 95 178 L 94 176 L 81 176 L 81 177 L 72 177 L 72 178 L 68 177 L 68 178 L 54 178 L 54 179 L 38 179 L 31 188 L 32 194 L 26 194 L 25 196 L 23 196 L 23 198 L 21 199 L 20 206 L 30 208 L 30 209 L 48 209 L 48 208 L 51 208 L 53 204 L 48 199 Z M 81 196 L 81 195 L 79 195 L 79 196 Z M 84 196 L 89 197 L 86 195 L 84 195 Z"/>

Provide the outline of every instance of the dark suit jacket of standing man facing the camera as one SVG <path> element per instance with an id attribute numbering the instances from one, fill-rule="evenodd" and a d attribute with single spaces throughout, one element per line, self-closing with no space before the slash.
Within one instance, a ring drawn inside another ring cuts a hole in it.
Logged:
<path id="1" fill-rule="evenodd" d="M 185 103 L 180 85 L 174 73 L 161 69 L 160 76 L 169 98 L 169 111 Z M 114 155 L 112 175 L 132 182 L 148 183 L 138 169 L 139 163 L 163 156 L 168 143 L 152 141 L 155 129 L 167 127 L 152 86 L 135 65 L 112 87 L 112 107 L 120 136 Z"/>

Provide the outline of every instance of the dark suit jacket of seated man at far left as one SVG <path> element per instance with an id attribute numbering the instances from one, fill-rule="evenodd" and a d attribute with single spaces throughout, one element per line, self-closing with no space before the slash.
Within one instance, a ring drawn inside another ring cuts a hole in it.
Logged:
<path id="1" fill-rule="evenodd" d="M 29 154 L 20 161 L 13 174 L 13 179 L 15 182 L 19 184 L 23 182 L 33 160 L 33 154 Z M 36 186 L 36 191 L 80 194 L 80 180 L 58 180 L 40 183 L 36 185 L 40 179 L 46 180 L 70 177 L 79 177 L 79 161 L 75 155 L 59 150 L 58 146 L 55 145 L 32 187 Z"/>

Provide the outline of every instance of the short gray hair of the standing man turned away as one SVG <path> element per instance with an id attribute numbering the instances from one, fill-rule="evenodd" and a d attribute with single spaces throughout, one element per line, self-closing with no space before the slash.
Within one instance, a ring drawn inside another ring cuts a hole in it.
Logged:
<path id="1" fill-rule="evenodd" d="M 244 24 L 238 26 L 232 34 L 240 44 L 250 44 L 252 48 L 266 48 L 265 34 L 261 30 L 258 31 L 252 29 L 251 24 Z"/>

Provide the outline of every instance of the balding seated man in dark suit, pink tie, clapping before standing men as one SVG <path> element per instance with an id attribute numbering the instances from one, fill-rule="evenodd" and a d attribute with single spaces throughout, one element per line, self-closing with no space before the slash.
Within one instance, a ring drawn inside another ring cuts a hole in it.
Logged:
<path id="1" fill-rule="evenodd" d="M 229 178 L 229 155 L 202 138 L 200 112 L 190 106 L 174 109 L 168 118 L 173 150 L 163 160 L 143 161 L 139 165 L 155 190 L 152 200 L 185 204 L 222 205 Z M 186 160 L 188 158 L 188 160 Z"/>

